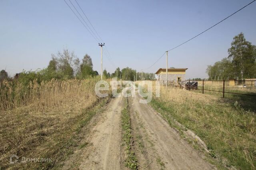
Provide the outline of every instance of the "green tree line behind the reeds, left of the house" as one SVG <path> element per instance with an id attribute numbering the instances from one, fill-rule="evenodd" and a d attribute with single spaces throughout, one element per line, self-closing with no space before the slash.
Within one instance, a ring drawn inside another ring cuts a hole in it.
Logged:
<path id="1" fill-rule="evenodd" d="M 137 80 L 141 80 L 141 72 L 136 72 L 132 68 L 126 67 L 122 68 L 122 70 L 118 67 L 116 70 L 110 74 L 104 69 L 102 76 L 107 78 L 118 77 L 122 80 L 131 80 L 133 81 L 136 78 Z M 68 49 L 63 49 L 63 51 L 59 51 L 56 55 L 52 54 L 52 58 L 48 64 L 48 66 L 41 70 L 36 71 L 23 71 L 17 73 L 14 78 L 10 78 L 8 73 L 5 70 L 0 71 L 0 81 L 5 79 L 7 80 L 18 80 L 24 84 L 28 84 L 30 81 L 37 80 L 38 83 L 48 80 L 59 79 L 59 80 L 67 80 L 72 78 L 77 79 L 86 79 L 90 77 L 98 76 L 99 73 L 96 70 L 93 70 L 92 59 L 90 55 L 84 55 L 83 59 L 80 60 L 74 54 L 74 51 L 69 51 Z M 153 73 L 143 73 L 143 80 L 154 80 L 155 76 Z"/>

